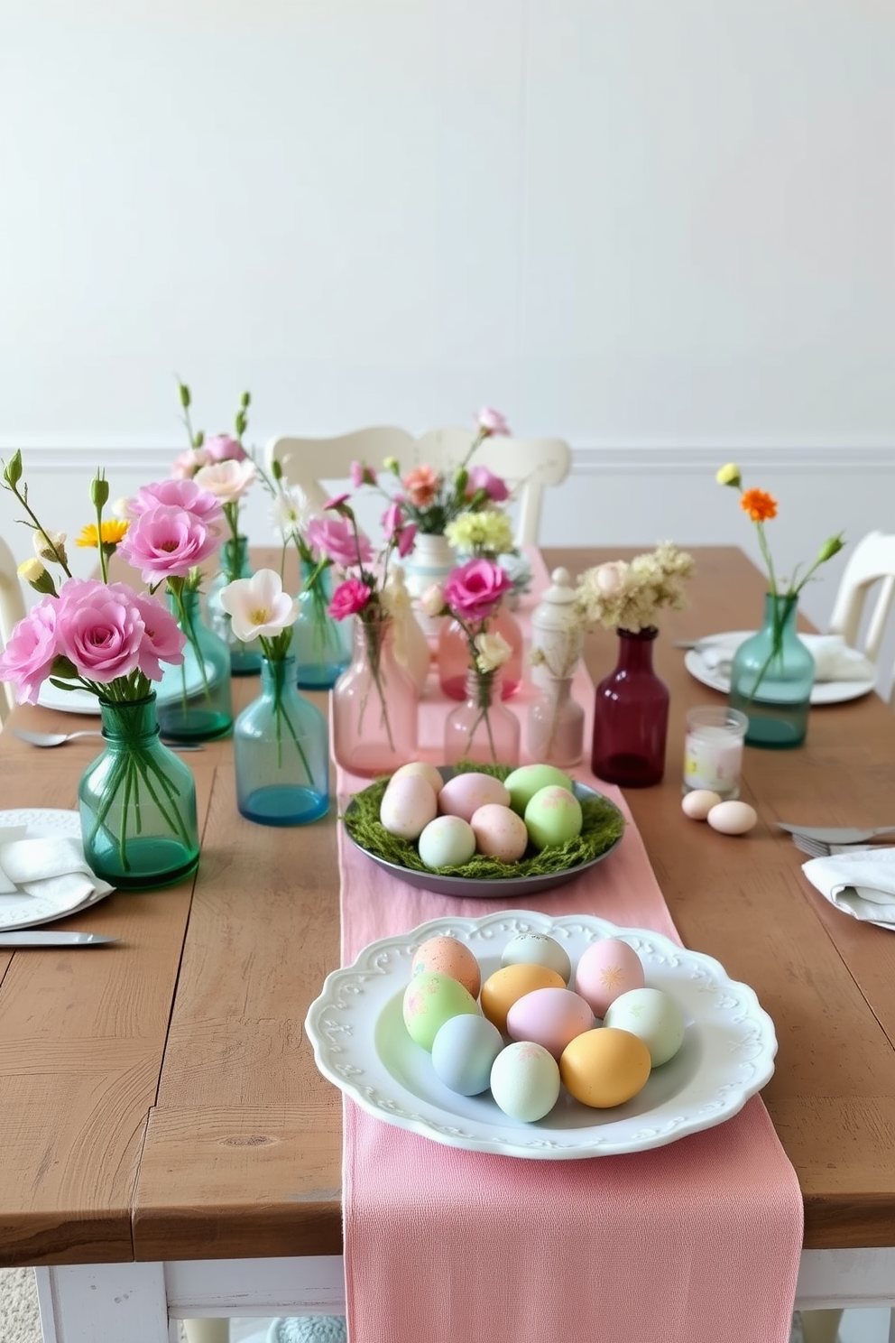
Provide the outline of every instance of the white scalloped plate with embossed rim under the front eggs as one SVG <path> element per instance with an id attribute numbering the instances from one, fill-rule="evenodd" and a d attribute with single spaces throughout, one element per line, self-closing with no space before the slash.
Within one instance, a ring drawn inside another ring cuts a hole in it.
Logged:
<path id="1" fill-rule="evenodd" d="M 590 1109 L 561 1091 L 535 1124 L 510 1119 L 491 1099 L 459 1096 L 432 1069 L 432 1056 L 401 1015 L 412 954 L 427 937 L 466 943 L 487 979 L 506 943 L 522 932 L 556 937 L 573 967 L 600 937 L 623 937 L 640 956 L 647 984 L 664 988 L 684 1014 L 684 1042 L 624 1105 Z M 448 1147 L 535 1160 L 615 1156 L 664 1147 L 730 1119 L 774 1072 L 774 1025 L 751 988 L 722 966 L 660 933 L 619 928 L 590 915 L 551 919 L 510 909 L 482 919 L 433 919 L 413 932 L 370 943 L 353 966 L 333 971 L 305 1022 L 317 1066 L 386 1124 Z"/>

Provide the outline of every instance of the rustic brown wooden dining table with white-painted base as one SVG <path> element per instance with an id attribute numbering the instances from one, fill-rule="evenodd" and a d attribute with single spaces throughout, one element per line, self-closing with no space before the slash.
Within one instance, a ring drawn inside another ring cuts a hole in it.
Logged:
<path id="1" fill-rule="evenodd" d="M 619 553 L 546 559 L 574 573 Z M 892 1304 L 895 939 L 827 905 L 774 822 L 891 822 L 895 716 L 868 696 L 813 710 L 801 749 L 747 748 L 742 795 L 759 814 L 747 838 L 686 821 L 684 710 L 722 697 L 672 641 L 739 629 L 762 598 L 739 551 L 695 555 L 690 606 L 656 643 L 666 779 L 628 802 L 684 943 L 750 983 L 774 1019 L 762 1096 L 804 1194 L 798 1303 Z M 590 637 L 586 659 L 598 680 L 613 637 Z M 255 688 L 236 680 L 236 705 Z M 31 706 L 12 725 L 63 720 L 90 725 Z M 39 752 L 5 731 L 0 804 L 75 806 L 93 753 L 89 739 Z M 0 1264 L 40 1266 L 50 1343 L 165 1343 L 169 1317 L 344 1304 L 341 1097 L 302 1031 L 338 964 L 335 808 L 307 829 L 251 825 L 229 741 L 188 759 L 195 882 L 115 893 L 63 924 L 111 933 L 114 948 L 0 955 Z"/>

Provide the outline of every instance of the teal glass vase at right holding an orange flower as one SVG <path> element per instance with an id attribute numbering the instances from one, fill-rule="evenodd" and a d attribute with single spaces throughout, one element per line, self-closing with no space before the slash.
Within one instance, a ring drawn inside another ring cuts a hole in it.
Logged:
<path id="1" fill-rule="evenodd" d="M 765 596 L 765 622 L 739 645 L 730 669 L 731 708 L 746 714 L 746 745 L 786 751 L 808 732 L 814 658 L 796 633 L 797 596 Z"/>

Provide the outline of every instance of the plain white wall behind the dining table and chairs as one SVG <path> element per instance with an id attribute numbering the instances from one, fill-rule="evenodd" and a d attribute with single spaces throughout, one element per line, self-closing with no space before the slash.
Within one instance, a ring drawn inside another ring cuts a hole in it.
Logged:
<path id="1" fill-rule="evenodd" d="M 74 530 L 177 372 L 258 445 L 495 404 L 547 541 L 754 553 L 730 458 L 784 565 L 892 530 L 894 68 L 891 0 L 3 0 L 0 450 Z"/>

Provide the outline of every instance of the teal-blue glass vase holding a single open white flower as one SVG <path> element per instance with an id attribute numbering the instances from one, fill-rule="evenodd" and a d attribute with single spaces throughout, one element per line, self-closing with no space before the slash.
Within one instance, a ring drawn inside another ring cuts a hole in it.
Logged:
<path id="1" fill-rule="evenodd" d="M 262 826 L 303 826 L 329 811 L 329 728 L 298 693 L 295 658 L 262 658 L 262 693 L 233 728 L 236 806 Z"/>

